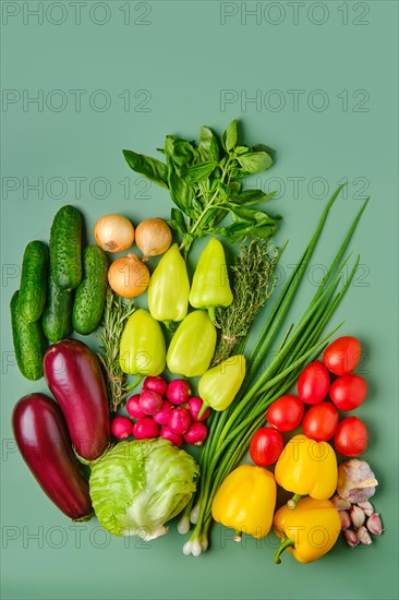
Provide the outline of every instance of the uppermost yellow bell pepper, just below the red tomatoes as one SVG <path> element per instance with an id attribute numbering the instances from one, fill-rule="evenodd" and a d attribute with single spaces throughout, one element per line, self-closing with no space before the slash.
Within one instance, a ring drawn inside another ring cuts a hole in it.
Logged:
<path id="1" fill-rule="evenodd" d="M 302 433 L 294 435 L 277 460 L 275 477 L 281 488 L 295 494 L 289 502 L 291 508 L 302 495 L 328 499 L 337 488 L 336 453 L 327 442 L 315 442 Z"/>

